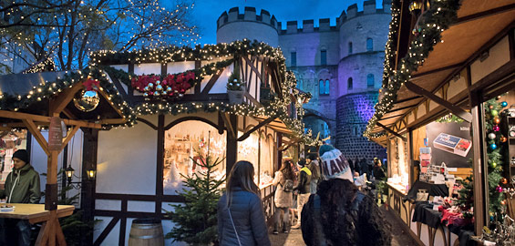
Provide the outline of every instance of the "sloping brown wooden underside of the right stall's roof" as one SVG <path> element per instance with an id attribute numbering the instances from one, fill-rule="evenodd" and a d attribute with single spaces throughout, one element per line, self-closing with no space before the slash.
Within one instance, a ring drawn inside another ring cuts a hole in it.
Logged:
<path id="1" fill-rule="evenodd" d="M 470 57 L 475 56 L 481 47 L 487 46 L 490 40 L 513 26 L 515 3 L 512 0 L 464 0 L 461 1 L 457 15 L 456 22 L 441 33 L 443 42 L 433 46 L 423 65 L 411 73 L 410 82 L 431 93 L 435 93 L 453 75 L 461 71 L 469 63 Z M 393 129 L 425 100 L 424 97 L 408 90 L 406 86 L 401 86 L 396 93 L 393 108 L 382 115 L 376 112 L 376 120 L 369 122 L 366 136 L 385 144 L 386 138 L 379 137 L 385 128 L 380 125 Z M 403 123 L 406 128 L 407 123 Z"/>

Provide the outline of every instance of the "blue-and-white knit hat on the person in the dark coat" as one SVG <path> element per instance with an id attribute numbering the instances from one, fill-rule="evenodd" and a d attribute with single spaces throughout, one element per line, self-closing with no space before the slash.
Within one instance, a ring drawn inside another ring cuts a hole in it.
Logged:
<path id="1" fill-rule="evenodd" d="M 347 159 L 340 150 L 330 145 L 323 145 L 318 150 L 320 165 L 324 179 L 348 179 L 353 180 L 352 170 Z"/>

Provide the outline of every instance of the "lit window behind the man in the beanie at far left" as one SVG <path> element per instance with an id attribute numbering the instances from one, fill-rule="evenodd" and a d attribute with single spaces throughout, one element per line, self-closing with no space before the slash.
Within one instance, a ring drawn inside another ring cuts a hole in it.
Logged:
<path id="1" fill-rule="evenodd" d="M 13 167 L 12 157 L 17 149 L 26 149 L 26 129 L 0 131 L 0 183 L 5 179 Z"/>

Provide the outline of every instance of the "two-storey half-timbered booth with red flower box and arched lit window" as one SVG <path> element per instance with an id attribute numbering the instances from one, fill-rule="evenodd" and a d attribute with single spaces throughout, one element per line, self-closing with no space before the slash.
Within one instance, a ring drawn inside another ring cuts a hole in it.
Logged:
<path id="1" fill-rule="evenodd" d="M 180 175 L 199 171 L 191 159 L 208 151 L 224 159 L 214 173 L 217 177 L 237 160 L 253 163 L 265 214 L 272 217 L 270 183 L 283 151 L 294 150 L 300 142 L 314 143 L 305 137 L 301 122 L 304 97 L 309 95 L 294 89 L 296 81 L 279 49 L 245 40 L 97 52 L 91 65 L 107 72 L 137 115 L 131 128 L 100 131 L 97 136 L 91 206 L 101 222 L 94 245 L 123 245 L 135 218 L 164 219 L 163 209 L 183 201 L 176 192 L 182 189 Z M 163 220 L 165 233 L 172 226 Z"/>

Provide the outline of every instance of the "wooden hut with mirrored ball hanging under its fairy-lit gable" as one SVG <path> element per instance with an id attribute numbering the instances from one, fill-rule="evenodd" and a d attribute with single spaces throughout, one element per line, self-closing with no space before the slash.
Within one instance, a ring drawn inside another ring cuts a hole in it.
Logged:
<path id="1" fill-rule="evenodd" d="M 0 217 L 42 222 L 36 245 L 66 245 L 67 235 L 63 234 L 57 219 L 71 215 L 74 207 L 57 206 L 57 188 L 61 185 L 57 184 L 57 171 L 66 168 L 61 153 L 63 150 L 68 152 L 67 144 L 80 132 L 79 129 L 85 136 L 90 136 L 100 128 L 125 125 L 133 120 L 129 105 L 106 77 L 98 69 L 0 77 L 2 135 L 12 134 L 25 139 L 23 144 L 20 141 L 20 144 L 3 147 L 3 179 L 10 171 L 10 159 L 15 149 L 31 152 L 31 164 L 40 173 L 46 173 L 41 179 L 45 204 L 15 205 L 15 211 L 2 213 Z M 25 129 L 17 133 L 23 136 L 13 134 L 16 132 L 13 129 Z M 78 177 L 84 181 L 82 188 L 88 190 L 91 186 L 86 171 L 94 169 L 94 155 L 87 150 L 79 158 L 84 168 Z"/>

